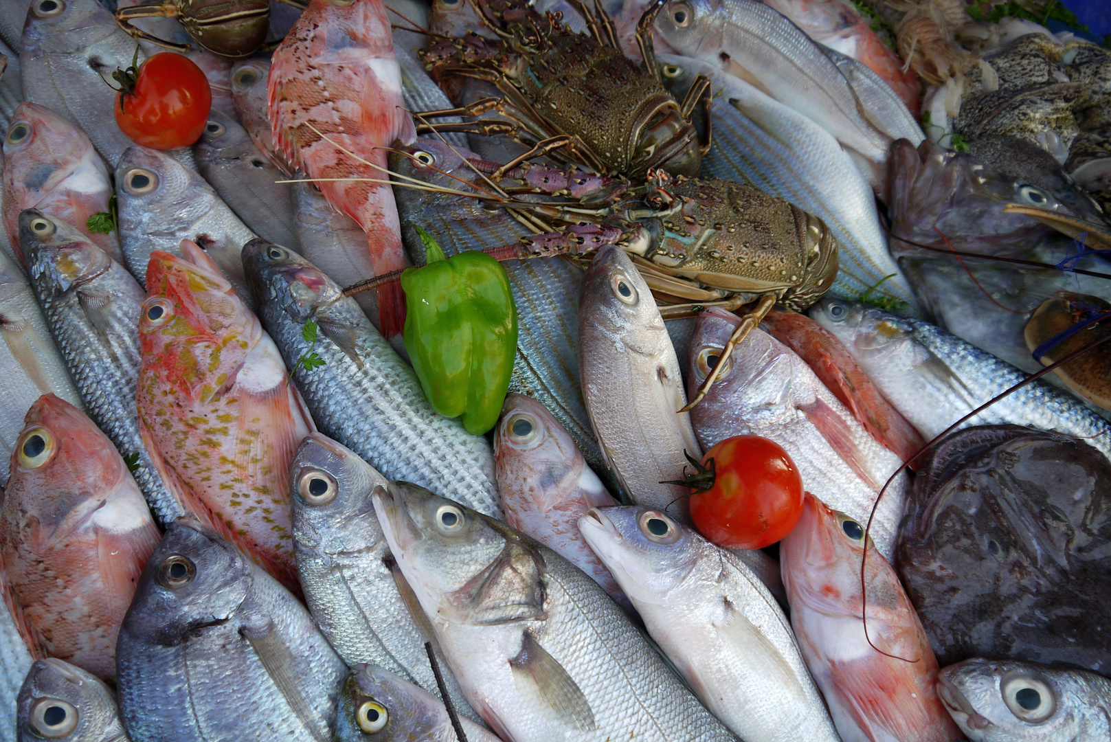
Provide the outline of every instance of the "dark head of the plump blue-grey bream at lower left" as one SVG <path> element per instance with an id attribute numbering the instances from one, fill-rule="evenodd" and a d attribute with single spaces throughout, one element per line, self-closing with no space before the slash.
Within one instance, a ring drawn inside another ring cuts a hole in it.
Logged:
<path id="1" fill-rule="evenodd" d="M 247 599 L 254 570 L 234 545 L 191 518 L 166 529 L 143 568 L 120 635 L 176 646 L 228 621 Z"/>

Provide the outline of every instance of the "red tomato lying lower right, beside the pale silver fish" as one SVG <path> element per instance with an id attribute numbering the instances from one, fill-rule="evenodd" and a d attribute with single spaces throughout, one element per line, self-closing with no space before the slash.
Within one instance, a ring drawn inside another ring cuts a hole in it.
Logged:
<path id="1" fill-rule="evenodd" d="M 709 489 L 691 495 L 691 519 L 707 539 L 728 549 L 775 543 L 802 517 L 802 477 L 781 445 L 760 435 L 727 438 L 707 451 Z"/>

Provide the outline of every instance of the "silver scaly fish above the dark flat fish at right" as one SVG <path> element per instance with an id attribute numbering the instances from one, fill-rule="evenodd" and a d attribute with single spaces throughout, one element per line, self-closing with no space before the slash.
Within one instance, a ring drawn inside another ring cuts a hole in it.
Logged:
<path id="1" fill-rule="evenodd" d="M 884 398 L 934 438 L 1027 378 L 1014 367 L 929 322 L 839 299 L 810 317 L 837 335 Z M 1067 392 L 1034 381 L 962 423 L 1012 423 L 1074 435 L 1111 457 L 1111 423 Z"/>

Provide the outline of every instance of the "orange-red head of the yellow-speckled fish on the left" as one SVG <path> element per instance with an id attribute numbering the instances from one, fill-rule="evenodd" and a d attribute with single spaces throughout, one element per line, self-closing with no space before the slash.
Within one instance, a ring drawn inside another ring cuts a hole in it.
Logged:
<path id="1" fill-rule="evenodd" d="M 182 240 L 181 251 L 151 253 L 139 313 L 142 364 L 157 365 L 159 383 L 207 402 L 236 382 L 262 327 L 200 248 Z"/>

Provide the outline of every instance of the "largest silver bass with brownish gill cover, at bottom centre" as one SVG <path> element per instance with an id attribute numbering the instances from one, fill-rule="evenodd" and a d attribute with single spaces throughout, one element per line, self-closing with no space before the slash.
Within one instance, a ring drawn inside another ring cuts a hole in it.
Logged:
<path id="1" fill-rule="evenodd" d="M 448 664 L 498 736 L 735 740 L 562 556 L 412 484 L 391 482 L 371 497 Z"/>

